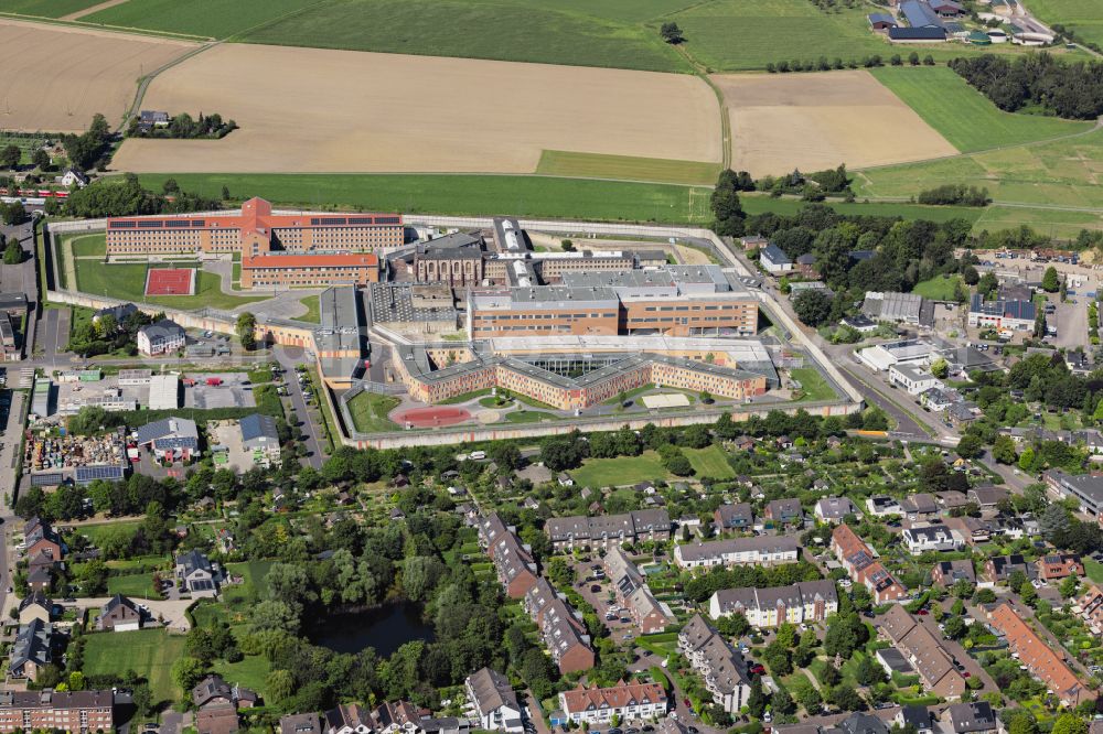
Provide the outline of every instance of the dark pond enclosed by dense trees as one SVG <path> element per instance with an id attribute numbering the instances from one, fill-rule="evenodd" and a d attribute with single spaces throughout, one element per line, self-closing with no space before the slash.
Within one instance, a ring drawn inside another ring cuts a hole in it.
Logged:
<path id="1" fill-rule="evenodd" d="M 387 657 L 406 643 L 433 639 L 432 626 L 421 620 L 416 604 L 386 604 L 367 612 L 331 614 L 308 632 L 310 641 L 336 652 L 360 652 L 374 647 Z"/>

